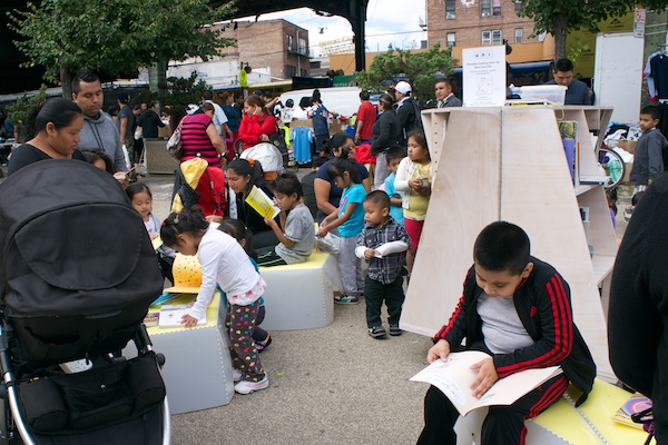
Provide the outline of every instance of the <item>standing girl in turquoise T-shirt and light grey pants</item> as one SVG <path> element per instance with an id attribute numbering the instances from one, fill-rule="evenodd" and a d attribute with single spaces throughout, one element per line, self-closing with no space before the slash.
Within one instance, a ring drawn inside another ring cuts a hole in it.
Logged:
<path id="1" fill-rule="evenodd" d="M 357 304 L 364 289 L 362 261 L 355 256 L 357 235 L 364 228 L 364 208 L 362 201 L 366 190 L 361 184 L 357 164 L 348 158 L 350 150 L 344 148 L 341 157 L 330 165 L 327 175 L 343 189 L 338 209 L 331 212 L 321 222 L 317 236 L 323 237 L 338 228 L 341 246 L 338 248 L 338 268 L 343 283 L 343 294 L 334 297 L 334 303 Z"/>

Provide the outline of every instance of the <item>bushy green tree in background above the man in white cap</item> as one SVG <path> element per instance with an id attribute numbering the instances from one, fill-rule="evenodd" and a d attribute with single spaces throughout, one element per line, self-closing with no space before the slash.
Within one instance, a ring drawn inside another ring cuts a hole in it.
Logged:
<path id="1" fill-rule="evenodd" d="M 456 62 L 450 48 L 441 49 L 439 43 L 426 51 L 393 49 L 380 53 L 367 70 L 356 75 L 357 86 L 372 91 L 387 89 L 389 81 L 406 80 L 413 87 L 412 95 L 426 101 L 433 97 L 436 77 L 449 76 Z"/>

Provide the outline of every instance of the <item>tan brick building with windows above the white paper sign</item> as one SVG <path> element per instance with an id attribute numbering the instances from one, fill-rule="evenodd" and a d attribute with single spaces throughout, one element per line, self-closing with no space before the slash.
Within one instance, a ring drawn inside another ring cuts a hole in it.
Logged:
<path id="1" fill-rule="evenodd" d="M 533 20 L 518 17 L 521 2 L 512 0 L 426 0 L 428 44 L 480 47 L 536 43 Z"/>

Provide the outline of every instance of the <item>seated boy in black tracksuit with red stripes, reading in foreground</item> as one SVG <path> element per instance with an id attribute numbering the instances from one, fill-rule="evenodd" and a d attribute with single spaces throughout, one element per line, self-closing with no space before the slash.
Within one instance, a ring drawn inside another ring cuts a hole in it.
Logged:
<path id="1" fill-rule="evenodd" d="M 490 354 L 474 365 L 475 397 L 510 374 L 553 365 L 563 368 L 563 374 L 512 405 L 491 406 L 482 425 L 482 445 L 522 444 L 525 418 L 557 402 L 569 380 L 583 392 L 581 404 L 596 377 L 591 354 L 572 320 L 568 285 L 552 266 L 531 257 L 529 249 L 529 237 L 515 225 L 498 221 L 480 233 L 462 297 L 426 356 L 430 364 L 444 359 L 464 338 L 466 349 Z M 455 444 L 458 417 L 450 399 L 430 387 L 418 444 Z"/>

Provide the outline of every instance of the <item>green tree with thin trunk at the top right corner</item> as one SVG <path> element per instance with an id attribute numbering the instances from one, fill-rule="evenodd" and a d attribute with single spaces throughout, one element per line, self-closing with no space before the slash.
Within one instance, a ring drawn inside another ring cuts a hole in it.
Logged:
<path id="1" fill-rule="evenodd" d="M 514 1 L 514 0 L 513 0 Z M 598 23 L 609 17 L 620 17 L 636 7 L 636 0 L 520 0 L 520 17 L 534 20 L 536 33 L 554 36 L 554 58 L 566 55 L 568 31 L 587 29 L 598 32 Z M 645 8 L 665 9 L 666 0 L 644 0 Z"/>

